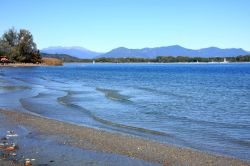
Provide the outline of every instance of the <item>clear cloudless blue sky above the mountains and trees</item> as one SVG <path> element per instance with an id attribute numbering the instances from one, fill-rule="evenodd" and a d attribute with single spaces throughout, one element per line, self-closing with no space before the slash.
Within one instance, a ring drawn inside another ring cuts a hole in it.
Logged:
<path id="1" fill-rule="evenodd" d="M 39 49 L 181 45 L 250 51 L 250 0 L 0 0 L 0 33 L 11 27 L 30 30 Z"/>

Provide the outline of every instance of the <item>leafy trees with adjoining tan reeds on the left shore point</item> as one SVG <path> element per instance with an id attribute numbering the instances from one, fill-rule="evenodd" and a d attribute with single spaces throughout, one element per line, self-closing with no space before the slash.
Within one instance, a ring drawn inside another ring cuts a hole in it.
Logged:
<path id="1" fill-rule="evenodd" d="M 42 58 L 33 35 L 26 29 L 11 28 L 0 38 L 0 62 L 9 66 L 62 65 L 58 58 Z"/>

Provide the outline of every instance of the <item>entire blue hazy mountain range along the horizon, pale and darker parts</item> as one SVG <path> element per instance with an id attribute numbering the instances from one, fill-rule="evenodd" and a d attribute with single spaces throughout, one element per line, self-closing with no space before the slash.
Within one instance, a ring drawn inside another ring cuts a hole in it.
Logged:
<path id="1" fill-rule="evenodd" d="M 107 53 L 98 53 L 81 47 L 49 47 L 41 50 L 47 54 L 68 54 L 77 58 L 155 58 L 157 56 L 188 56 L 188 57 L 233 57 L 239 55 L 249 55 L 248 51 L 241 48 L 221 49 L 209 47 L 203 49 L 187 49 L 178 45 L 156 48 L 128 49 L 119 47 Z"/>

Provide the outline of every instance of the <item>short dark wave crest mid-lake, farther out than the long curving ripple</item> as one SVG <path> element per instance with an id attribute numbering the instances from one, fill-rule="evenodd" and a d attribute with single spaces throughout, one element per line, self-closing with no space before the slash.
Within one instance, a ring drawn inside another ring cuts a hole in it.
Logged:
<path id="1" fill-rule="evenodd" d="M 102 92 L 108 99 L 122 101 L 122 102 L 132 102 L 129 96 L 122 95 L 118 90 L 96 88 L 97 91 Z"/>

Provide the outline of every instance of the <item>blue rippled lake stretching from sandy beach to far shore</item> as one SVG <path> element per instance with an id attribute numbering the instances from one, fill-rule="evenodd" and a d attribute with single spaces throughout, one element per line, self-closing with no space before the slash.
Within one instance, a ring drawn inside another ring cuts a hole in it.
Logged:
<path id="1" fill-rule="evenodd" d="M 250 160 L 250 64 L 0 68 L 0 108 Z"/>

